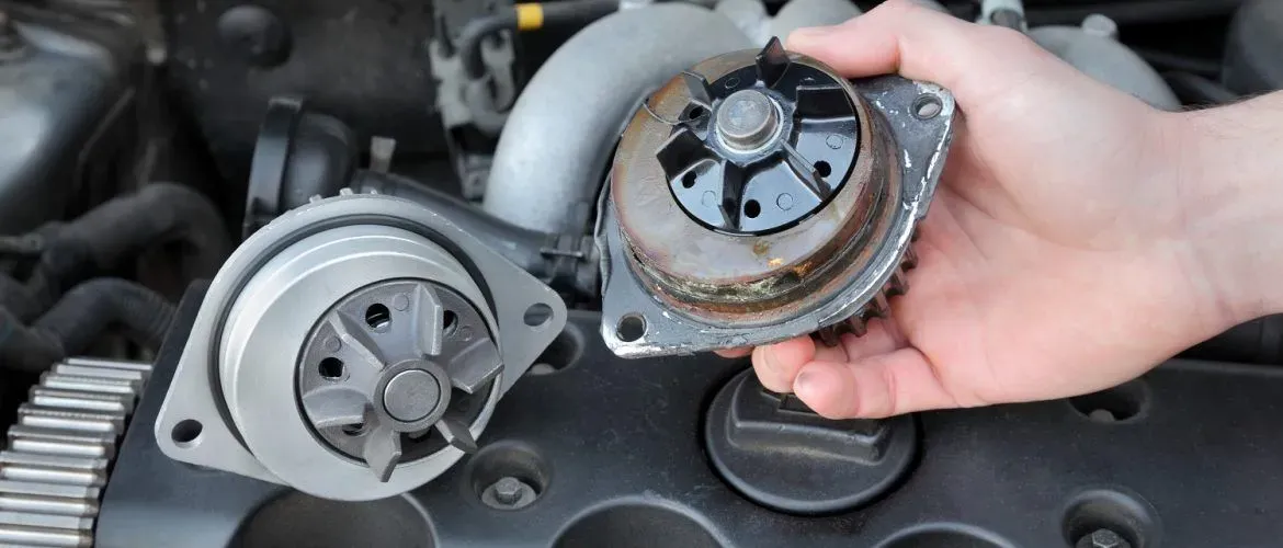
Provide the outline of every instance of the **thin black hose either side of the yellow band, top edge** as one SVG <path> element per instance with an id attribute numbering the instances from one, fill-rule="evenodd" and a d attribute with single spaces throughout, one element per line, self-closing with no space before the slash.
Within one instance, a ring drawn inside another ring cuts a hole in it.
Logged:
<path id="1" fill-rule="evenodd" d="M 543 12 L 540 26 L 556 26 L 588 23 L 600 19 L 618 10 L 620 3 L 618 0 L 567 0 L 538 4 L 538 9 Z M 470 21 L 459 31 L 455 47 L 459 51 L 459 60 L 463 63 L 463 72 L 468 78 L 477 80 L 485 76 L 485 62 L 481 59 L 481 42 L 495 32 L 517 30 L 520 19 L 517 10 L 516 5 L 499 8 L 491 15 Z"/>

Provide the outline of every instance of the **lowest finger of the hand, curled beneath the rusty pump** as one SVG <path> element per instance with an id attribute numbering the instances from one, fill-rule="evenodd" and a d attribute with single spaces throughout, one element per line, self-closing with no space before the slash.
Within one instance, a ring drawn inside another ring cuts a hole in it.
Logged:
<path id="1" fill-rule="evenodd" d="M 793 393 L 828 418 L 881 418 L 957 407 L 915 348 L 853 363 L 807 363 L 793 381 Z"/>

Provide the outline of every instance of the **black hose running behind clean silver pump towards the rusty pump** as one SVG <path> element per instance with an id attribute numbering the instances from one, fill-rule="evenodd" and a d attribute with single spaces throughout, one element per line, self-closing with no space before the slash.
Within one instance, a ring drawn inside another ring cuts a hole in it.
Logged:
<path id="1" fill-rule="evenodd" d="M 512 225 L 467 201 L 393 173 L 362 171 L 352 186 L 358 193 L 404 198 L 439 212 L 464 232 L 486 243 L 490 249 L 553 289 L 589 299 L 597 295 L 600 276 L 595 248 L 584 245 L 590 240 Z"/>

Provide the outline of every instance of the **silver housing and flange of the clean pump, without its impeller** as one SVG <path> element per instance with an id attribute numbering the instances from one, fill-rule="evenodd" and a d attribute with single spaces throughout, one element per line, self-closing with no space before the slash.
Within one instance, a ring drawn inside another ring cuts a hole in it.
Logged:
<path id="1" fill-rule="evenodd" d="M 476 439 L 495 400 L 561 331 L 565 304 L 543 282 L 435 212 L 399 198 L 348 193 L 287 212 L 225 263 L 160 408 L 155 436 L 162 452 L 349 501 L 395 495 L 440 475 L 463 456 L 458 448 L 407 453 L 405 458 L 395 456 L 398 448 L 391 444 L 363 448 L 370 461 L 395 463 L 386 475 L 384 466 L 371 474 L 364 459 L 318 440 L 318 425 L 300 412 L 300 349 L 313 348 L 308 340 L 318 318 L 349 295 L 395 280 L 430 281 L 458 293 L 476 305 L 497 341 L 502 371 L 494 382 L 475 385 L 484 390 L 484 406 L 467 424 L 439 429 L 448 441 Z M 409 314 L 409 308 L 385 305 L 394 322 L 414 321 L 396 318 Z M 529 309 L 549 314 L 527 325 Z M 421 316 L 418 325 L 440 326 L 444 320 L 436 314 Z M 380 334 L 381 320 L 354 323 L 344 327 L 348 336 Z M 343 334 L 335 336 L 336 348 L 350 347 Z M 322 338 L 318 347 L 331 343 Z M 344 421 L 355 418 L 341 415 Z"/>

